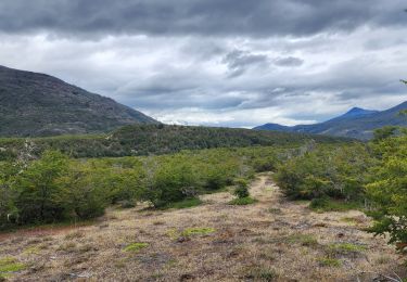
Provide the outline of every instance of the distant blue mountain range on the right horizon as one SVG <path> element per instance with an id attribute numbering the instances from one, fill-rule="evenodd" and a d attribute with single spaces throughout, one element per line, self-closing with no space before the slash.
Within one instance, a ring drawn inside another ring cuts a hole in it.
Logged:
<path id="1" fill-rule="evenodd" d="M 407 102 L 386 111 L 370 111 L 354 107 L 347 113 L 315 125 L 297 125 L 293 127 L 277 124 L 265 124 L 255 127 L 255 130 L 277 130 L 284 132 L 304 132 L 314 134 L 327 134 L 336 137 L 356 138 L 369 140 L 373 130 L 383 126 L 407 126 L 407 118 L 398 115 L 402 110 L 407 108 Z"/>

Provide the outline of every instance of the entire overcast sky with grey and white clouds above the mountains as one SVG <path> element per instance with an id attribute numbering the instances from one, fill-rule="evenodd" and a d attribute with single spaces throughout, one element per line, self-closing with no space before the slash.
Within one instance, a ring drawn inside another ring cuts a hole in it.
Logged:
<path id="1" fill-rule="evenodd" d="M 0 65 L 169 124 L 309 124 L 407 100 L 405 9 L 405 0 L 1 0 Z"/>

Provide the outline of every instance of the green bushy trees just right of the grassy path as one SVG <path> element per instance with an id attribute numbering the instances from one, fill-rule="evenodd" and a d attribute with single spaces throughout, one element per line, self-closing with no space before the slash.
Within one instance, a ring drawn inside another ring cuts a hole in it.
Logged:
<path id="1" fill-rule="evenodd" d="M 369 148 L 352 144 L 314 151 L 290 158 L 279 166 L 276 180 L 292 200 L 359 200 L 364 195 L 368 168 L 376 163 Z M 322 200 L 315 205 L 322 204 Z"/>

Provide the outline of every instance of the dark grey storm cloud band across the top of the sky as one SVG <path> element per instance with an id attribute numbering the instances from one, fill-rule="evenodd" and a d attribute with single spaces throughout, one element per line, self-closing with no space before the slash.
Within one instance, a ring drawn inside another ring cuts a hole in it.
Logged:
<path id="1" fill-rule="evenodd" d="M 402 0 L 2 0 L 0 30 L 305 36 L 407 23 Z"/>

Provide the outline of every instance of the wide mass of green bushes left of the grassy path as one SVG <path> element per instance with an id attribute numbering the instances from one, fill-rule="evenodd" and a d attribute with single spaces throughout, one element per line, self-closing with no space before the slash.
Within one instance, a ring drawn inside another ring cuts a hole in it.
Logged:
<path id="1" fill-rule="evenodd" d="M 282 152 L 285 149 L 216 149 L 74 159 L 47 151 L 33 161 L 22 156 L 24 162 L 0 162 L 0 225 L 87 220 L 102 215 L 109 205 L 142 201 L 158 208 L 195 206 L 201 204 L 199 194 L 222 189 L 238 178 L 246 190 L 253 164 L 278 153 L 283 159 Z"/>

